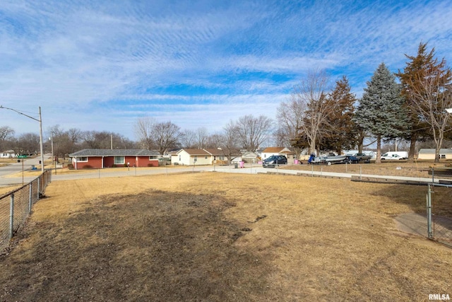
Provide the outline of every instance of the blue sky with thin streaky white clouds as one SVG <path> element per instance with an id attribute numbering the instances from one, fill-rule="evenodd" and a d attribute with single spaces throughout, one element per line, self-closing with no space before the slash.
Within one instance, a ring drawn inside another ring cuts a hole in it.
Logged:
<path id="1" fill-rule="evenodd" d="M 275 119 L 307 71 L 345 75 L 362 95 L 376 67 L 397 71 L 420 42 L 452 62 L 452 1 L 0 2 L 0 105 L 44 132 L 136 139 L 138 117 L 218 132 L 243 115 Z M 0 110 L 0 126 L 38 132 Z"/>

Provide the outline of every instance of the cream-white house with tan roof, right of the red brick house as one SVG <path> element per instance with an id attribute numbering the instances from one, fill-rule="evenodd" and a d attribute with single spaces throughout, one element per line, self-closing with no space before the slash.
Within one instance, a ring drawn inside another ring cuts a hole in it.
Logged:
<path id="1" fill-rule="evenodd" d="M 180 149 L 171 154 L 173 165 L 213 165 L 227 161 L 219 149 Z"/>

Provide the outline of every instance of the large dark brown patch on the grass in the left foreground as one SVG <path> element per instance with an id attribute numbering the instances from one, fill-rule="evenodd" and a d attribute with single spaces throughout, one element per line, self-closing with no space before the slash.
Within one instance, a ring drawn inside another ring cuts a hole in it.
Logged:
<path id="1" fill-rule="evenodd" d="M 270 266 L 234 245 L 251 229 L 227 220 L 230 207 L 216 195 L 99 197 L 62 224 L 32 226 L 40 240 L 3 260 L 0 300 L 262 300 Z"/>

